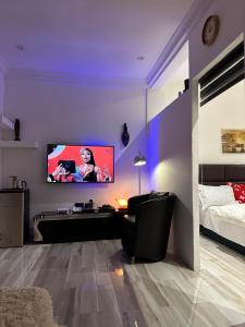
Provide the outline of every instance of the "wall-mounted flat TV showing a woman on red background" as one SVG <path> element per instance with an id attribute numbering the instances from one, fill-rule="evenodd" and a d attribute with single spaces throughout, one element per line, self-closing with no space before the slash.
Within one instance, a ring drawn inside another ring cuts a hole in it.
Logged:
<path id="1" fill-rule="evenodd" d="M 48 144 L 48 183 L 113 183 L 114 147 Z"/>

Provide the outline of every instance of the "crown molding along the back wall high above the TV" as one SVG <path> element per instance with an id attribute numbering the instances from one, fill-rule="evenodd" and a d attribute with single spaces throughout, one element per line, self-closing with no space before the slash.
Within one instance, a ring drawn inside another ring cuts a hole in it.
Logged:
<path id="1" fill-rule="evenodd" d="M 83 76 L 63 72 L 10 69 L 7 74 L 7 83 L 17 81 L 98 87 L 146 88 L 146 81 L 139 78 Z"/>

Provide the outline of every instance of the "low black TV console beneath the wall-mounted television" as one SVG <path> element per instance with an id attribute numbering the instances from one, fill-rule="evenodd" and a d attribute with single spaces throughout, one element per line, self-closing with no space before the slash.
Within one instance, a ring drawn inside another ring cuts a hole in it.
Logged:
<path id="1" fill-rule="evenodd" d="M 34 241 L 58 243 L 121 239 L 124 213 L 41 213 L 34 217 Z"/>

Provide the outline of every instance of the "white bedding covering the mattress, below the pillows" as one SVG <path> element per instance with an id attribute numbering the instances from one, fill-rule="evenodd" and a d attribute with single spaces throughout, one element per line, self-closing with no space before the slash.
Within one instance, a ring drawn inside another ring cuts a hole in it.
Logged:
<path id="1" fill-rule="evenodd" d="M 245 204 L 200 208 L 200 225 L 245 246 Z"/>

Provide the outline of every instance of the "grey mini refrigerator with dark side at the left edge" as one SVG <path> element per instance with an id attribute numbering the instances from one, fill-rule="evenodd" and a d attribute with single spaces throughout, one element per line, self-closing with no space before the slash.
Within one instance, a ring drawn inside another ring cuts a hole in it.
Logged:
<path id="1" fill-rule="evenodd" d="M 29 191 L 0 190 L 0 247 L 29 241 Z"/>

